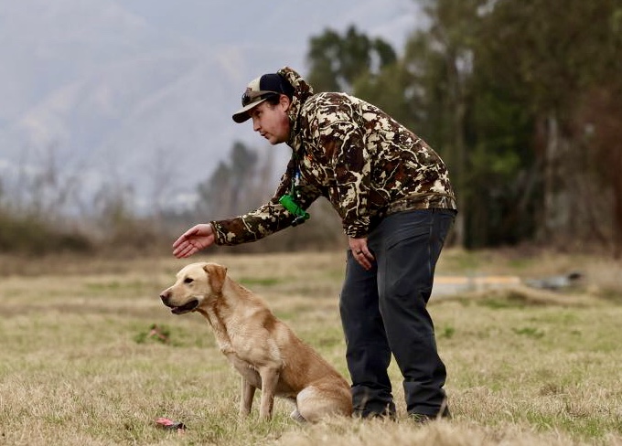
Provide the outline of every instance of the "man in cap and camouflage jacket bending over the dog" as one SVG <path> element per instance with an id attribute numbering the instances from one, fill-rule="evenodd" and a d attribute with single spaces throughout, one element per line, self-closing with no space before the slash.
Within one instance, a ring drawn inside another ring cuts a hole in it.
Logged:
<path id="1" fill-rule="evenodd" d="M 445 365 L 426 310 L 456 216 L 445 164 L 377 107 L 344 93 L 314 94 L 288 67 L 252 80 L 241 102 L 233 120 L 252 119 L 270 143 L 287 143 L 292 159 L 267 204 L 188 229 L 173 254 L 262 239 L 304 222 L 305 209 L 326 197 L 349 237 L 339 310 L 355 414 L 395 416 L 387 374 L 392 354 L 413 419 L 449 416 Z"/>

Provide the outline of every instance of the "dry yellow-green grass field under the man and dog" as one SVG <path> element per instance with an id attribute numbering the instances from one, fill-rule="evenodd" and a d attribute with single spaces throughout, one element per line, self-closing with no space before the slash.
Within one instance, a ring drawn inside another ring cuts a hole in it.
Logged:
<path id="1" fill-rule="evenodd" d="M 343 253 L 198 256 L 225 264 L 346 377 Z M 580 269 L 564 292 L 466 290 L 429 304 L 450 421 L 237 416 L 239 377 L 206 321 L 158 294 L 188 260 L 0 259 L 0 445 L 622 445 L 622 264 L 446 250 L 437 277 Z M 10 273 L 9 273 L 10 272 Z M 156 324 L 166 342 L 150 335 Z M 256 397 L 257 398 L 257 397 Z M 256 406 L 256 404 L 255 404 Z M 155 424 L 186 424 L 183 435 Z"/>

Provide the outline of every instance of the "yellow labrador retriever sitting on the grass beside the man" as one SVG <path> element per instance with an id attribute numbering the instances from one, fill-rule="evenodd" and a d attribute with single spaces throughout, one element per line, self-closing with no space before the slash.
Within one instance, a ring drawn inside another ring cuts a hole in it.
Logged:
<path id="1" fill-rule="evenodd" d="M 201 313 L 211 325 L 220 351 L 241 374 L 240 413 L 251 413 L 252 398 L 262 390 L 259 414 L 272 417 L 274 397 L 291 399 L 290 415 L 315 422 L 328 415 L 352 413 L 349 384 L 257 295 L 231 280 L 217 263 L 191 263 L 160 294 L 172 313 Z"/>

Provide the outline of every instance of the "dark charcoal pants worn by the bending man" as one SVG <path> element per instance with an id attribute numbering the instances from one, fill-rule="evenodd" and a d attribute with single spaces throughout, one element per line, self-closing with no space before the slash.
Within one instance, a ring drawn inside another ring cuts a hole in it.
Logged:
<path id="1" fill-rule="evenodd" d="M 426 303 L 455 216 L 453 210 L 422 209 L 384 218 L 368 237 L 376 259 L 370 271 L 348 251 L 339 310 L 355 415 L 394 415 L 391 354 L 402 371 L 409 414 L 434 417 L 446 407 L 445 365 Z"/>

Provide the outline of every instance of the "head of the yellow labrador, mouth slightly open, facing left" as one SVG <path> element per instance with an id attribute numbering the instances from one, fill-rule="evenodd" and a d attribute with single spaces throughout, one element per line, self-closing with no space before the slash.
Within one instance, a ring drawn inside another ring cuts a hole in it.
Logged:
<path id="1" fill-rule="evenodd" d="M 222 292 L 227 268 L 217 263 L 190 263 L 177 272 L 177 281 L 160 293 L 171 312 L 184 314 L 198 310 Z"/>

